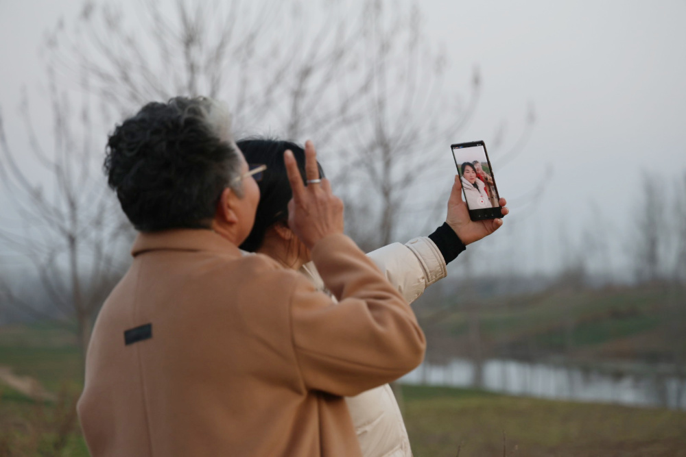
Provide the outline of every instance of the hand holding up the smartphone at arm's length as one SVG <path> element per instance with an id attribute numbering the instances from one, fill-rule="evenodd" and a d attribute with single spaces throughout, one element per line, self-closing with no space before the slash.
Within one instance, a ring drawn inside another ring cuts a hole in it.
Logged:
<path id="1" fill-rule="evenodd" d="M 507 201 L 501 198 L 499 205 L 501 213 L 508 214 L 510 210 L 505 207 Z M 472 221 L 469 219 L 469 209 L 462 200 L 462 182 L 460 176 L 455 176 L 455 183 L 448 199 L 448 215 L 445 221 L 460 237 L 462 243 L 469 245 L 498 230 L 503 225 L 502 219 L 486 219 L 485 221 Z"/>

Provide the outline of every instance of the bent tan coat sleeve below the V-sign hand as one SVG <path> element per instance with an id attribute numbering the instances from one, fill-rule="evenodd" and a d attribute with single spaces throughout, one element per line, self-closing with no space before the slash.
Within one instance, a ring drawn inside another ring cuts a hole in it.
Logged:
<path id="1" fill-rule="evenodd" d="M 414 312 L 350 238 L 325 237 L 312 260 L 339 302 L 298 276 L 292 335 L 307 388 L 357 395 L 421 363 L 426 343 Z"/>

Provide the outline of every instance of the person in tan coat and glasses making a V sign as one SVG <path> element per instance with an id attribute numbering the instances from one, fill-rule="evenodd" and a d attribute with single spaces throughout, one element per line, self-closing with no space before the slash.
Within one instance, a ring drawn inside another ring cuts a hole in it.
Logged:
<path id="1" fill-rule="evenodd" d="M 285 154 L 288 227 L 333 299 L 244 256 L 259 188 L 209 99 L 150 103 L 108 141 L 105 169 L 139 236 L 102 307 L 78 414 L 100 456 L 360 456 L 345 396 L 399 378 L 425 340 L 352 240 L 307 146 Z"/>

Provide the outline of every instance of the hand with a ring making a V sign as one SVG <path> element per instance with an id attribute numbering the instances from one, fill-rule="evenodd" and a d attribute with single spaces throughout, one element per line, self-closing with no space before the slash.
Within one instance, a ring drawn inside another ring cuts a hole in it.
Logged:
<path id="1" fill-rule="evenodd" d="M 331 183 L 319 177 L 317 152 L 311 141 L 305 143 L 305 176 L 307 186 L 298 171 L 293 153 L 285 151 L 283 160 L 293 198 L 288 202 L 288 226 L 312 249 L 324 236 L 343 233 L 343 201 L 331 192 Z"/>

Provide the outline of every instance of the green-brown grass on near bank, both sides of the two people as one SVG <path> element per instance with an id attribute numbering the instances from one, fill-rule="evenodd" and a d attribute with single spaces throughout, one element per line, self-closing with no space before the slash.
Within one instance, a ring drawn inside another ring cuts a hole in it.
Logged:
<path id="1" fill-rule="evenodd" d="M 0 386 L 0 457 L 87 456 L 73 405 L 80 359 L 69 328 L 0 328 L 0 365 L 58 393 Z M 686 412 L 402 386 L 415 456 L 686 456 Z"/>

